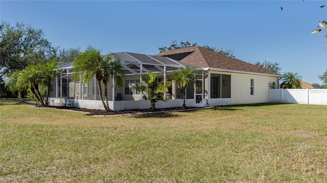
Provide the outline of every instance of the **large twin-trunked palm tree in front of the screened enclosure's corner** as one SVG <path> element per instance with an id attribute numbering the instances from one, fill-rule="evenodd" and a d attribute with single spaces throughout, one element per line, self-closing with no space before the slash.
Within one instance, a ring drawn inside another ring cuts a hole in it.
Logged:
<path id="1" fill-rule="evenodd" d="M 73 62 L 73 68 L 75 71 L 77 71 L 75 79 L 79 77 L 79 74 L 82 74 L 82 81 L 87 83 L 89 80 L 92 79 L 93 75 L 96 76 L 96 79 L 98 81 L 100 99 L 106 111 L 111 111 L 109 109 L 106 92 L 109 77 L 111 74 L 114 74 L 113 76 L 118 79 L 119 77 L 117 76 L 121 76 L 124 73 L 122 71 L 121 63 L 113 59 L 113 56 L 114 55 L 111 54 L 102 57 L 100 50 L 88 46 L 86 50 L 83 53 L 79 54 L 76 60 Z M 103 99 L 101 82 L 105 84 L 106 102 Z"/>

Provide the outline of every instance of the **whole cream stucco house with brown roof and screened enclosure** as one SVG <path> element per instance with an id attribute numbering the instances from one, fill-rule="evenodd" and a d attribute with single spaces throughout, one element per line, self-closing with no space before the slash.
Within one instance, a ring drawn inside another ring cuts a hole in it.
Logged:
<path id="1" fill-rule="evenodd" d="M 150 100 L 146 93 L 137 92 L 133 86 L 142 82 L 143 73 L 157 73 L 157 80 L 170 79 L 170 74 L 182 67 L 195 67 L 201 87 L 190 85 L 186 90 L 186 106 L 205 107 L 269 102 L 268 83 L 275 88 L 283 75 L 262 69 L 247 62 L 226 57 L 199 46 L 168 50 L 155 56 L 117 53 L 125 71 L 124 87 L 116 87 L 114 80 L 108 85 L 109 107 L 114 111 L 148 109 Z M 96 79 L 83 83 L 73 81 L 72 62 L 58 66 L 60 77 L 52 80 L 51 105 L 77 108 L 104 109 L 100 101 Z M 166 101 L 159 101 L 156 108 L 182 107 L 181 89 L 175 81 L 165 93 Z"/>

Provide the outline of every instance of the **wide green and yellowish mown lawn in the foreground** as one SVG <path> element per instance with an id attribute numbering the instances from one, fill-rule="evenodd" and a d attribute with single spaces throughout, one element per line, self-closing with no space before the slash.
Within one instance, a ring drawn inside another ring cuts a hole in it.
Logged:
<path id="1" fill-rule="evenodd" d="M 97 118 L 0 101 L 0 182 L 327 182 L 327 106 Z"/>

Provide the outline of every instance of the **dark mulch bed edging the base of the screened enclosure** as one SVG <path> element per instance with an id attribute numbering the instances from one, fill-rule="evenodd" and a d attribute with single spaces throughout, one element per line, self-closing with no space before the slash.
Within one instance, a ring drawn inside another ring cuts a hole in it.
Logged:
<path id="1" fill-rule="evenodd" d="M 179 110 L 191 110 L 191 109 L 199 109 L 195 107 L 186 107 L 186 108 L 166 108 L 166 109 L 138 109 L 138 110 L 127 110 L 127 111 L 106 111 L 106 110 L 98 110 L 98 109 L 85 109 L 85 108 L 72 108 L 72 107 L 65 107 L 65 106 L 41 106 L 40 104 L 32 104 L 27 102 L 17 102 L 14 104 L 24 104 L 33 106 L 35 108 L 54 108 L 54 109 L 65 109 L 65 110 L 72 110 L 72 111 L 80 111 L 86 112 L 88 116 L 95 116 L 95 115 L 117 115 L 117 114 L 130 114 L 130 113 L 149 113 L 149 112 L 169 112 L 169 111 L 179 111 Z"/>

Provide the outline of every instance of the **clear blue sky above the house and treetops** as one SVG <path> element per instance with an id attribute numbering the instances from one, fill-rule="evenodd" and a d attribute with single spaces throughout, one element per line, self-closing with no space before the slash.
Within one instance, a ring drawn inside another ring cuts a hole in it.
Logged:
<path id="1" fill-rule="evenodd" d="M 319 83 L 327 43 L 310 34 L 327 1 L 0 1 L 2 21 L 42 29 L 54 46 L 155 55 L 173 40 L 235 49 L 245 62 L 277 62 Z"/>

